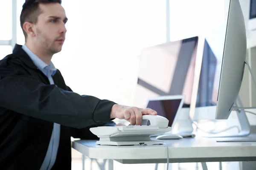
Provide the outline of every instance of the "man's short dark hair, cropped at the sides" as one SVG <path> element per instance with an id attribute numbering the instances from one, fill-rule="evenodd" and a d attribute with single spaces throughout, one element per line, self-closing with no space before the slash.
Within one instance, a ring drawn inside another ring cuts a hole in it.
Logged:
<path id="1" fill-rule="evenodd" d="M 59 3 L 61 4 L 61 0 L 26 0 L 22 6 L 22 11 L 20 14 L 20 26 L 25 36 L 25 40 L 27 37 L 26 31 L 23 29 L 23 24 L 25 22 L 29 23 L 37 23 L 38 16 L 42 13 L 42 10 L 39 8 L 40 3 Z"/>

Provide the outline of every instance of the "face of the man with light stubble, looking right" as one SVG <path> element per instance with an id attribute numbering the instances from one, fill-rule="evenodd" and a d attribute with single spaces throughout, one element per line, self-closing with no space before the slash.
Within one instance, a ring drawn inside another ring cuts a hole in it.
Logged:
<path id="1" fill-rule="evenodd" d="M 49 54 L 61 51 L 67 32 L 67 17 L 59 3 L 40 4 L 43 11 L 34 25 L 35 43 Z"/>

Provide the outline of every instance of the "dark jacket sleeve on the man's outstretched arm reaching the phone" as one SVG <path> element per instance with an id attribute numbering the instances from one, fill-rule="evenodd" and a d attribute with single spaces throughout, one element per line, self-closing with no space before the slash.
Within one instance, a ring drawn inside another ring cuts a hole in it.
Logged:
<path id="1" fill-rule="evenodd" d="M 0 106 L 69 127 L 111 122 L 115 102 L 46 85 L 20 68 L 0 67 Z"/>

